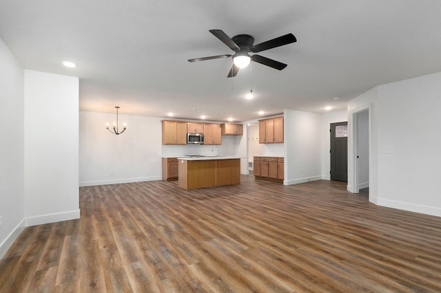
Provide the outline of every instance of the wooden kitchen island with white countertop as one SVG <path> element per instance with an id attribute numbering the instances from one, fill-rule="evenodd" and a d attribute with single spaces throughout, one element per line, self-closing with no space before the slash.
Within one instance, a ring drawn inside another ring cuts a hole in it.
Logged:
<path id="1" fill-rule="evenodd" d="M 178 174 L 178 186 L 184 189 L 240 184 L 240 158 L 178 158 Z"/>

